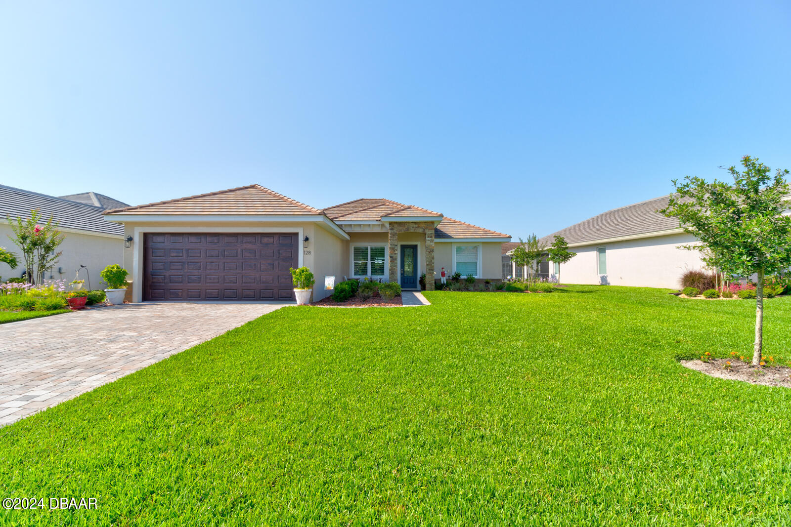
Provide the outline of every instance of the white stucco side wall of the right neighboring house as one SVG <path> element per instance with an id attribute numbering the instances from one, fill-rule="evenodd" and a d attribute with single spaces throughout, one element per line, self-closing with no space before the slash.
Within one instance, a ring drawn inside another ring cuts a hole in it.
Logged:
<path id="1" fill-rule="evenodd" d="M 560 266 L 560 280 L 564 284 L 604 283 L 678 289 L 686 269 L 705 267 L 698 251 L 678 248 L 696 242 L 694 236 L 678 233 L 570 247 L 577 256 Z M 598 270 L 599 247 L 606 249 L 607 273 L 604 274 Z"/>

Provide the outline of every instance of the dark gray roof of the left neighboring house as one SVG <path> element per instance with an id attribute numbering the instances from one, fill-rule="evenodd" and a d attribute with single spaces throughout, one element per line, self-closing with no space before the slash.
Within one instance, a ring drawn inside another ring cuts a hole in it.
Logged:
<path id="1" fill-rule="evenodd" d="M 62 228 L 123 235 L 123 225 L 104 221 L 100 207 L 0 185 L 0 220 L 7 221 L 7 216 L 29 218 L 32 209 L 39 209 L 44 220 L 54 217 Z"/>

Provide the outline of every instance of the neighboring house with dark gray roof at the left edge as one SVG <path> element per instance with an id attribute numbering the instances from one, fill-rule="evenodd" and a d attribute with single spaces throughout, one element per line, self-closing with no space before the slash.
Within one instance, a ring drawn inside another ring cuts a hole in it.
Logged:
<path id="1" fill-rule="evenodd" d="M 74 280 L 81 265 L 79 278 L 85 280 L 85 288 L 100 288 L 99 273 L 110 264 L 120 264 L 123 259 L 123 227 L 105 221 L 104 206 L 128 206 L 102 194 L 87 192 L 58 198 L 21 190 L 12 186 L 0 185 L 0 247 L 16 253 L 20 260 L 17 269 L 0 263 L 0 277 L 21 277 L 25 273 L 21 265 L 21 251 L 11 237 L 13 232 L 8 217 L 29 218 L 32 209 L 39 209 L 41 221 L 52 216 L 59 223 L 59 229 L 66 235 L 58 250 L 62 255 L 55 266 L 45 275 L 47 279 Z M 88 280 L 90 278 L 90 280 Z"/>

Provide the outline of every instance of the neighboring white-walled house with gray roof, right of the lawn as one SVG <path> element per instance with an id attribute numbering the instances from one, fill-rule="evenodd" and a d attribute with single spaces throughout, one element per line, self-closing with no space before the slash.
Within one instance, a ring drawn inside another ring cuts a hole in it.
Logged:
<path id="1" fill-rule="evenodd" d="M 657 210 L 668 205 L 669 196 L 640 201 L 608 210 L 588 220 L 544 236 L 551 245 L 562 236 L 577 253 L 569 262 L 542 262 L 539 273 L 560 273 L 569 284 L 612 284 L 651 288 L 679 288 L 687 269 L 704 269 L 697 250 L 679 246 L 698 239 L 679 228 L 679 220 Z"/>

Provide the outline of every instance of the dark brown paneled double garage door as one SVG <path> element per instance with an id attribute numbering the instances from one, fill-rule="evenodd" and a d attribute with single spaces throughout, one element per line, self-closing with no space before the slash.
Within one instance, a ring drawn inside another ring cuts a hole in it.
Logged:
<path id="1" fill-rule="evenodd" d="M 143 237 L 144 300 L 291 300 L 297 233 Z"/>

